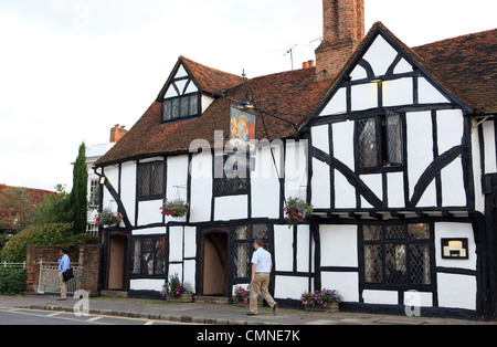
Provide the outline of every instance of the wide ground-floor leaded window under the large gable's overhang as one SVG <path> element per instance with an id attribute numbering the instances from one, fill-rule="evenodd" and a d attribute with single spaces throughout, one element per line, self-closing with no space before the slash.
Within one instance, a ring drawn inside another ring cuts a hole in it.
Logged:
<path id="1" fill-rule="evenodd" d="M 430 224 L 362 225 L 366 286 L 417 287 L 432 285 Z"/>

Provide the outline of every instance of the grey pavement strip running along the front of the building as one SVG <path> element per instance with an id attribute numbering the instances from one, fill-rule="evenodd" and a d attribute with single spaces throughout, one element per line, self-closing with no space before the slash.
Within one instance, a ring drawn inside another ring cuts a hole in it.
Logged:
<path id="1" fill-rule="evenodd" d="M 366 313 L 320 313 L 279 308 L 276 316 L 269 307 L 260 308 L 257 316 L 246 316 L 245 307 L 207 303 L 168 303 L 166 301 L 94 297 L 86 302 L 74 298 L 57 301 L 56 296 L 0 296 L 0 308 L 28 308 L 55 312 L 87 309 L 88 314 L 144 318 L 198 325 L 497 325 L 497 322 L 452 318 L 408 317 Z"/>

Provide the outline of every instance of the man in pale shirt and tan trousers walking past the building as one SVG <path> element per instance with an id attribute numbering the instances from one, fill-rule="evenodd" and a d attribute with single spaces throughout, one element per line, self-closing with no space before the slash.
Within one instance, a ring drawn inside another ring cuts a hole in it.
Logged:
<path id="1" fill-rule="evenodd" d="M 269 252 L 264 250 L 264 242 L 262 240 L 255 240 L 254 249 L 255 252 L 252 255 L 251 312 L 247 315 L 256 316 L 258 314 L 258 291 L 261 291 L 266 303 L 273 307 L 273 314 L 276 315 L 278 303 L 276 303 L 269 292 L 267 292 L 269 286 L 269 273 L 273 270 L 273 261 Z"/>

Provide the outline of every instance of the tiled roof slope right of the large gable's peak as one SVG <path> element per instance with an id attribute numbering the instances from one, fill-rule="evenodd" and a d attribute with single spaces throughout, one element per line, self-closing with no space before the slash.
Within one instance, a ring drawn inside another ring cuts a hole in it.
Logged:
<path id="1" fill-rule="evenodd" d="M 478 111 L 497 112 L 497 30 L 413 49 L 457 96 Z"/>

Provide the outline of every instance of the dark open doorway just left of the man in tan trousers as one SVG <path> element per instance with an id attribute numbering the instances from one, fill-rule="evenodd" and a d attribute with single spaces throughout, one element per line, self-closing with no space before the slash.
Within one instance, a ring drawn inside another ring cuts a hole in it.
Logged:
<path id="1" fill-rule="evenodd" d="M 200 293 L 207 296 L 228 294 L 229 229 L 202 230 Z"/>

